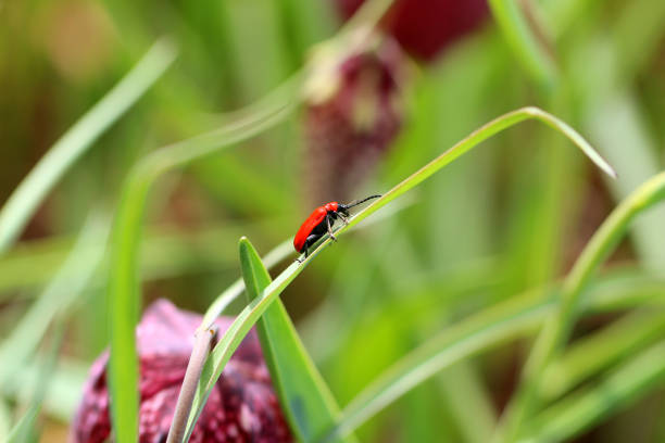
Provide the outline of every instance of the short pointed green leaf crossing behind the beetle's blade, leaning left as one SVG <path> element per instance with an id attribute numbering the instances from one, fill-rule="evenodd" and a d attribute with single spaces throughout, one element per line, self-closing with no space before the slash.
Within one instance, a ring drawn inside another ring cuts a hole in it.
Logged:
<path id="1" fill-rule="evenodd" d="M 271 283 L 271 276 L 247 238 L 240 239 L 239 249 L 242 278 L 252 302 Z M 291 430 L 298 441 L 316 441 L 336 422 L 339 407 L 280 300 L 265 311 L 256 322 L 256 331 Z"/>

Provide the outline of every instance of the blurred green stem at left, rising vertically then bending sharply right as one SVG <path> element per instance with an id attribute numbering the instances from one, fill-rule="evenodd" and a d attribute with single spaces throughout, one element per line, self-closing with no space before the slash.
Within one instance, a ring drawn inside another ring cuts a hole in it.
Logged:
<path id="1" fill-rule="evenodd" d="M 162 148 L 129 174 L 112 231 L 111 279 L 108 289 L 111 325 L 109 385 L 115 438 L 135 442 L 138 434 L 138 363 L 135 327 L 140 304 L 138 251 L 148 192 L 165 173 L 254 137 L 283 122 L 297 104 L 300 75 L 265 99 L 238 113 L 217 130 Z"/>

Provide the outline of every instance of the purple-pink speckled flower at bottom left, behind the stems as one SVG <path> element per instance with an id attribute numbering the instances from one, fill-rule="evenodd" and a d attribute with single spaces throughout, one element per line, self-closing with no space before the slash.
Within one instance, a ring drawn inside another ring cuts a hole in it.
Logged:
<path id="1" fill-rule="evenodd" d="M 223 333 L 233 319 L 216 321 Z M 140 363 L 139 441 L 165 442 L 201 316 L 160 300 L 137 328 Z M 96 443 L 111 433 L 108 352 L 90 369 L 72 429 L 73 441 Z M 290 442 L 291 434 L 252 330 L 230 358 L 191 434 L 190 442 Z"/>

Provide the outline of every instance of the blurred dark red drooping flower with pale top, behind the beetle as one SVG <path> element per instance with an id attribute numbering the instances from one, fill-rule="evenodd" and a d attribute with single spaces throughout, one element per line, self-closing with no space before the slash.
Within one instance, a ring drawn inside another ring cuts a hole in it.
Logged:
<path id="1" fill-rule="evenodd" d="M 355 195 L 402 123 L 406 60 L 397 42 L 377 37 L 346 50 L 319 48 L 305 86 L 305 167 L 315 205 Z"/>

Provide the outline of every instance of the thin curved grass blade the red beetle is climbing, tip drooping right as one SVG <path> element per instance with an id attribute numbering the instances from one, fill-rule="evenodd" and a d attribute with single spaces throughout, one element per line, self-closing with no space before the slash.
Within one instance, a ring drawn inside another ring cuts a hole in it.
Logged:
<path id="1" fill-rule="evenodd" d="M 380 199 L 375 200 L 374 203 L 369 204 L 363 211 L 351 217 L 349 224 L 339 228 L 336 233 L 342 235 L 351 227 L 357 225 L 363 219 L 367 218 L 371 214 L 374 214 L 380 207 L 385 206 L 399 195 L 403 194 L 407 190 L 419 185 L 436 172 L 440 170 L 448 164 L 452 163 L 455 159 L 460 157 L 464 153 L 468 152 L 474 147 L 478 145 L 481 141 L 487 140 L 489 137 L 506 129 L 517 123 L 526 119 L 537 119 L 544 123 L 545 125 L 559 130 L 570 139 L 585 154 L 587 154 L 593 163 L 595 163 L 601 169 L 611 176 L 615 176 L 614 169 L 598 154 L 593 148 L 573 128 L 566 125 L 564 122 L 554 117 L 553 115 L 538 109 L 538 107 L 523 107 L 507 114 L 504 114 L 485 126 L 480 127 L 476 131 L 472 132 L 465 139 L 453 145 L 448 151 L 443 152 L 437 159 L 432 160 L 421 169 L 416 170 L 410 177 L 404 179 L 402 182 L 393 187 L 390 191 L 386 192 Z M 310 264 L 325 248 L 330 244 L 330 239 L 326 238 L 318 248 L 302 263 L 293 263 L 291 266 L 286 268 L 267 288 L 265 288 L 259 298 L 254 299 L 242 312 L 236 317 L 236 320 L 228 328 L 222 340 L 217 343 L 213 352 L 211 353 L 203 374 L 199 383 L 197 395 L 192 406 L 192 413 L 190 420 L 188 421 L 187 435 L 191 433 L 193 425 L 200 415 L 210 391 L 214 387 L 215 382 L 222 375 L 224 366 L 228 363 L 231 354 L 236 351 L 244 336 L 249 332 L 251 327 L 256 320 L 263 315 L 265 309 L 278 298 L 284 289 Z"/>

